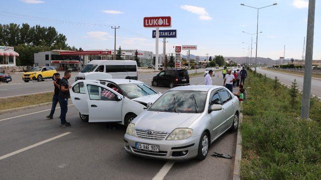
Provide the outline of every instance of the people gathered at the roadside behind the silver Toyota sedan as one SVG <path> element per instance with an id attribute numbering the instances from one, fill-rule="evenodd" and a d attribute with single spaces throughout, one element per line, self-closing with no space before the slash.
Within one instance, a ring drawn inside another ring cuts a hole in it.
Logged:
<path id="1" fill-rule="evenodd" d="M 229 89 L 233 93 L 233 87 L 240 87 L 240 91 L 238 93 L 234 93 L 239 97 L 240 101 L 243 101 L 245 89 L 243 87 L 245 78 L 247 77 L 247 71 L 245 70 L 245 67 L 242 67 L 242 70 L 235 70 L 232 73 L 232 70 L 228 70 L 225 66 L 223 71 L 223 86 L 225 86 L 227 89 Z M 213 70 L 209 70 L 209 73 L 205 75 L 205 85 L 213 85 L 211 76 L 213 75 Z"/>

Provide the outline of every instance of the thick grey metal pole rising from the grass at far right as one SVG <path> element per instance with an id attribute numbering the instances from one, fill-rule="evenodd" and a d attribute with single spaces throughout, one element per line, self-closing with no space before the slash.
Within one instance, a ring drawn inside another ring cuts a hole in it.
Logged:
<path id="1" fill-rule="evenodd" d="M 306 50 L 303 78 L 303 91 L 301 99 L 301 118 L 308 119 L 310 111 L 311 75 L 313 57 L 313 35 L 314 35 L 314 11 L 315 0 L 309 0 L 306 27 Z"/>

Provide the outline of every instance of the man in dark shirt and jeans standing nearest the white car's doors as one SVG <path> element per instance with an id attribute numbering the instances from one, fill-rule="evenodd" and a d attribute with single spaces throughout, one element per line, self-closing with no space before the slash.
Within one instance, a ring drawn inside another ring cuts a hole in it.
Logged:
<path id="1" fill-rule="evenodd" d="M 59 91 L 59 104 L 60 104 L 60 120 L 62 126 L 70 126 L 71 124 L 66 121 L 66 114 L 68 111 L 68 98 L 70 97 L 69 89 L 71 85 L 69 85 L 68 79 L 71 77 L 71 71 L 66 70 L 64 73 L 64 77 L 60 82 L 60 91 Z"/>

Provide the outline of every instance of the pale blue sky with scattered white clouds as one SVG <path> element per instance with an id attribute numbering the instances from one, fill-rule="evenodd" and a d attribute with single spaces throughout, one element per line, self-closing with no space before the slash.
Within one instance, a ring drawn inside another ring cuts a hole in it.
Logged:
<path id="1" fill-rule="evenodd" d="M 245 56 L 248 45 L 242 42 L 250 43 L 251 36 L 242 31 L 256 32 L 257 11 L 240 3 L 261 7 L 274 2 L 278 4 L 260 10 L 259 31 L 263 33 L 258 37 L 258 56 L 277 59 L 283 56 L 286 45 L 285 57 L 300 59 L 306 36 L 307 0 L 6 0 L 2 10 L 43 20 L 0 12 L 0 23 L 51 25 L 67 36 L 69 45 L 83 49 L 113 49 L 114 31 L 110 26 L 119 25 L 117 46 L 154 52 L 153 28 L 143 27 L 143 17 L 171 16 L 169 29 L 177 29 L 178 38 L 167 39 L 167 52 L 173 52 L 174 45 L 196 44 L 198 50 L 191 52 L 196 55 Z M 321 59 L 320 7 L 316 0 L 313 59 Z M 101 25 L 57 23 L 44 18 Z M 163 51 L 162 39 L 159 51 Z"/>

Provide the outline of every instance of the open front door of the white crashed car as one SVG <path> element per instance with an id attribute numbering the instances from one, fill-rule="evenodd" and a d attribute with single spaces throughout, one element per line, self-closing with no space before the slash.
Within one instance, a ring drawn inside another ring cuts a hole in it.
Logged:
<path id="1" fill-rule="evenodd" d="M 89 122 L 121 122 L 124 96 L 94 82 L 84 82 L 89 98 Z"/>

